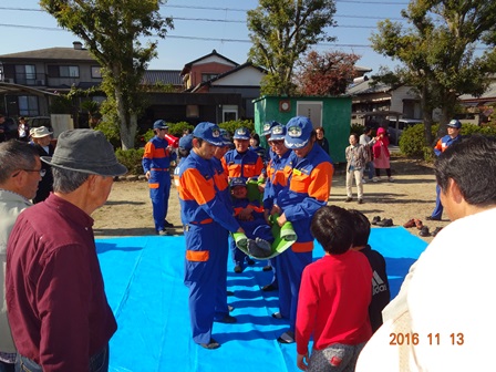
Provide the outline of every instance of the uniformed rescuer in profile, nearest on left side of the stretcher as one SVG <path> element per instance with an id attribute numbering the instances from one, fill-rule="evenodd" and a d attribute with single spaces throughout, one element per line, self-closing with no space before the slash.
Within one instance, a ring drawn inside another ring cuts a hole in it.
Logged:
<path id="1" fill-rule="evenodd" d="M 180 217 L 185 224 L 185 285 L 189 288 L 193 340 L 205 349 L 217 349 L 211 337 L 214 321 L 235 323 L 227 306 L 227 231 L 244 234 L 218 192 L 213 165 L 217 146 L 224 144 L 219 127 L 199 123 L 193 131 L 193 149 L 180 165 Z M 246 239 L 246 236 L 244 237 Z"/>

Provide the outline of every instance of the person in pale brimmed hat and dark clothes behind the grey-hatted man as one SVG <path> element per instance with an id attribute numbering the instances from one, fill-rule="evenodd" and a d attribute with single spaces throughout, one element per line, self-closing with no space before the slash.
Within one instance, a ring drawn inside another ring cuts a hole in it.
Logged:
<path id="1" fill-rule="evenodd" d="M 45 126 L 32 128 L 30 133 L 33 146 L 38 151 L 38 154 L 40 154 L 40 156 L 52 156 L 54 152 L 54 148 L 51 144 L 53 133 L 50 132 Z M 38 186 L 37 196 L 33 199 L 34 204 L 46 199 L 50 193 L 53 190 L 53 176 L 50 165 L 43 162 L 41 166 L 44 169 L 45 174 L 40 180 L 40 185 Z"/>

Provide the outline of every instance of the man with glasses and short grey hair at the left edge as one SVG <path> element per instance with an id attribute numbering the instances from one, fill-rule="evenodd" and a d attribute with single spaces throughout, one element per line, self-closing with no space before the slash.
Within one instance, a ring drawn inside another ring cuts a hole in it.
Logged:
<path id="1" fill-rule="evenodd" d="M 7 240 L 19 214 L 31 206 L 41 179 L 40 156 L 19 141 L 0 143 L 0 371 L 13 372 L 16 347 L 7 319 L 4 290 Z"/>

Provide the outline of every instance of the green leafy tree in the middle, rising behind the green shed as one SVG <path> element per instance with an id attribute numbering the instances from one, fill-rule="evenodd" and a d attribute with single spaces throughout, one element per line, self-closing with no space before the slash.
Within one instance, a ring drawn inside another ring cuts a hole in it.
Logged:
<path id="1" fill-rule="evenodd" d="M 334 13 L 334 0 L 259 0 L 248 11 L 249 58 L 268 70 L 262 94 L 294 93 L 294 64 L 311 45 L 334 40 L 326 31 L 335 25 Z"/>

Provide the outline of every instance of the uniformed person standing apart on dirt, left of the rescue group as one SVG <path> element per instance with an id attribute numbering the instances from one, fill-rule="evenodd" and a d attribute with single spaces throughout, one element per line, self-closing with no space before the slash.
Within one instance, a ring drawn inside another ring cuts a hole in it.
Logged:
<path id="1" fill-rule="evenodd" d="M 158 235 L 168 235 L 167 229 L 174 227 L 167 221 L 168 197 L 170 195 L 170 161 L 176 159 L 165 136 L 168 126 L 163 120 L 153 124 L 155 136 L 145 145 L 143 170 L 148 179 L 149 197 L 152 198 L 153 219 Z"/>

